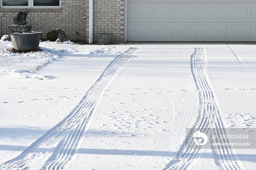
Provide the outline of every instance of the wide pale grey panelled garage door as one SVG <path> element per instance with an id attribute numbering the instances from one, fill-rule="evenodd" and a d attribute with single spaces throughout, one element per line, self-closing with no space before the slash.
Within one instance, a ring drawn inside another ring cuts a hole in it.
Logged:
<path id="1" fill-rule="evenodd" d="M 256 0 L 128 0 L 128 41 L 256 41 Z"/>

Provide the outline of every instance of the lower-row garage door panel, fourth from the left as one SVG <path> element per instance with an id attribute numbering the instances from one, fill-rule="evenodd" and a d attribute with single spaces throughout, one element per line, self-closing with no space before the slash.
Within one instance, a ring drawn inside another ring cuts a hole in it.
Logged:
<path id="1" fill-rule="evenodd" d="M 224 26 L 203 25 L 203 39 L 224 39 Z"/>

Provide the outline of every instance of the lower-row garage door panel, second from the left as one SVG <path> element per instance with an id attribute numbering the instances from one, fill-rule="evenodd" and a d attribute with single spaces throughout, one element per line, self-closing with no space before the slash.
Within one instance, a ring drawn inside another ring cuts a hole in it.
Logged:
<path id="1" fill-rule="evenodd" d="M 155 39 L 175 39 L 175 25 L 155 25 Z"/>

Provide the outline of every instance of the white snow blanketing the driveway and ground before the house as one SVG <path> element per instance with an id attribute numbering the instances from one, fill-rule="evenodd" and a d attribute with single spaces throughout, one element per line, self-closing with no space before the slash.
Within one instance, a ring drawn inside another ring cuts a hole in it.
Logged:
<path id="1" fill-rule="evenodd" d="M 214 126 L 200 123 L 199 88 L 212 92 L 223 127 L 256 128 L 254 44 L 40 42 L 38 52 L 24 54 L 10 48 L 0 41 L 0 169 L 256 165 L 255 149 L 230 150 L 235 163 L 219 162 L 211 149 L 177 156 L 185 128 Z M 192 73 L 193 62 L 200 67 L 191 60 L 195 48 L 206 56 L 207 85 Z"/>

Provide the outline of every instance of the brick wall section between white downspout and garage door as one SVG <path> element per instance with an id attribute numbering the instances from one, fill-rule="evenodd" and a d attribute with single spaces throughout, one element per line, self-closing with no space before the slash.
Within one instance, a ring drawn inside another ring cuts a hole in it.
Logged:
<path id="1" fill-rule="evenodd" d="M 87 39 L 89 39 L 89 0 L 87 1 Z M 93 40 L 95 34 L 113 33 L 113 42 L 124 42 L 124 0 L 94 0 Z"/>

